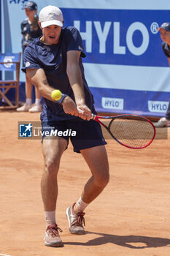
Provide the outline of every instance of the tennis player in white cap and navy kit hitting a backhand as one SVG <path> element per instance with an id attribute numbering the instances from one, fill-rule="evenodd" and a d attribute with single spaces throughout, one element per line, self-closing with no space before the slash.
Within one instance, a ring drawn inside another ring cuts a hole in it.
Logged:
<path id="1" fill-rule="evenodd" d="M 109 164 L 101 127 L 96 121 L 90 120 L 91 113 L 96 111 L 82 66 L 85 53 L 80 32 L 74 27 L 63 29 L 63 14 L 54 6 L 47 6 L 40 11 L 39 26 L 42 29 L 42 37 L 35 39 L 26 48 L 23 70 L 45 98 L 41 114 L 42 131 L 55 128 L 62 132 L 66 129 L 76 132 L 76 136 L 71 138 L 61 135 L 57 139 L 47 139 L 44 136 L 42 142 L 45 169 L 41 187 L 47 223 L 45 245 L 63 246 L 58 234 L 58 230 L 62 230 L 55 222 L 55 207 L 58 196 L 58 169 L 69 139 L 72 141 L 74 152 L 82 154 L 91 171 L 77 202 L 75 200 L 76 203 L 66 209 L 71 233 L 85 233 L 85 208 L 106 187 L 109 181 Z M 51 99 L 54 89 L 60 89 L 63 93 L 57 102 Z M 77 177 L 79 175 L 81 170 Z"/>

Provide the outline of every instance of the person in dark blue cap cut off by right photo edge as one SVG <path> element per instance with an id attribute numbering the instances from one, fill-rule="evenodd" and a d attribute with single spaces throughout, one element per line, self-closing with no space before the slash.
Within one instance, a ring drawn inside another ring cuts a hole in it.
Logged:
<path id="1" fill-rule="evenodd" d="M 163 40 L 162 48 L 163 53 L 166 55 L 169 61 L 169 67 L 170 67 L 170 23 L 166 22 L 161 25 L 161 27 L 158 29 L 161 34 L 161 39 Z M 162 117 L 157 123 L 155 123 L 155 127 L 169 127 L 170 126 L 170 101 L 169 101 L 169 107 L 166 111 L 166 115 Z"/>

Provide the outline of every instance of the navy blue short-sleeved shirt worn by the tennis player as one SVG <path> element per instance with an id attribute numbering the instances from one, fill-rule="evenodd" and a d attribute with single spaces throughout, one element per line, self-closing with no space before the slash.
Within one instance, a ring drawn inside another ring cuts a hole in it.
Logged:
<path id="1" fill-rule="evenodd" d="M 61 36 L 57 45 L 45 45 L 40 41 L 40 37 L 31 42 L 24 51 L 23 61 L 26 69 L 44 69 L 47 81 L 54 89 L 59 89 L 63 94 L 69 95 L 74 100 L 72 87 L 66 74 L 66 53 L 69 50 L 78 50 L 81 52 L 80 70 L 82 72 L 82 83 L 85 91 L 85 103 L 88 108 L 96 113 L 93 107 L 93 94 L 91 94 L 88 83 L 85 80 L 84 68 L 82 66 L 82 57 L 85 57 L 82 38 L 80 32 L 74 27 L 66 27 L 61 30 Z M 53 115 L 55 120 L 65 120 L 75 118 L 64 113 L 62 105 L 45 99 L 42 115 Z"/>

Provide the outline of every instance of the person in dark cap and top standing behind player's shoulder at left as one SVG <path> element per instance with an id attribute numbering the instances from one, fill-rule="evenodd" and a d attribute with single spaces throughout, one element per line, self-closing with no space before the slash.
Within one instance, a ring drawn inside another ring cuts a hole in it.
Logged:
<path id="1" fill-rule="evenodd" d="M 23 34 L 22 49 L 24 51 L 30 42 L 42 35 L 42 30 L 38 24 L 39 17 L 37 15 L 36 3 L 34 1 L 27 1 L 23 9 L 26 10 L 26 16 L 28 17 L 21 23 L 21 33 Z M 35 89 L 36 99 L 35 104 L 32 105 L 32 89 L 32 83 L 26 75 L 26 103 L 22 107 L 17 108 L 18 112 L 29 111 L 35 113 L 42 111 L 41 95 L 38 89 Z"/>

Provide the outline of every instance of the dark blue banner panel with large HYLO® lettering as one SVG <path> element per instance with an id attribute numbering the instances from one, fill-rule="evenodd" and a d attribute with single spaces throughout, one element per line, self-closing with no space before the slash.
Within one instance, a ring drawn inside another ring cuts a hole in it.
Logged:
<path id="1" fill-rule="evenodd" d="M 158 27 L 170 11 L 63 9 L 84 39 L 87 63 L 166 67 Z M 72 14 L 72 15 L 71 15 Z"/>

